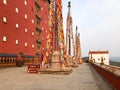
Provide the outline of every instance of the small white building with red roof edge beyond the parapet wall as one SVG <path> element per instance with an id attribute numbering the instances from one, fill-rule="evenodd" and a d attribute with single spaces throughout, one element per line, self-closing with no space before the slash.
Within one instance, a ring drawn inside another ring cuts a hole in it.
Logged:
<path id="1" fill-rule="evenodd" d="M 109 52 L 108 51 L 89 51 L 89 61 L 96 63 L 104 63 L 109 65 Z"/>

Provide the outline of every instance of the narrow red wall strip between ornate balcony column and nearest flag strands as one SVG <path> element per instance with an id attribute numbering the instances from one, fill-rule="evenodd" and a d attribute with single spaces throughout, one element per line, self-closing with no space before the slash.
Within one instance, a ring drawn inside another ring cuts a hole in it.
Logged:
<path id="1" fill-rule="evenodd" d="M 40 40 L 42 41 L 41 46 L 40 46 L 40 53 L 41 55 L 45 54 L 46 51 L 46 44 L 47 44 L 47 35 L 49 32 L 49 3 L 47 0 L 41 0 L 40 1 L 40 6 L 41 6 L 41 11 L 40 11 L 40 17 L 41 17 L 41 22 L 40 22 L 40 28 L 41 28 L 41 33 L 40 33 Z"/>

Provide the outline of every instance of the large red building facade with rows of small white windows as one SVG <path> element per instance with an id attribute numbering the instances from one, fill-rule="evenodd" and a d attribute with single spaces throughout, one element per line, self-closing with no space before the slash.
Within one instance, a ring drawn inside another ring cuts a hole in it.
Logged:
<path id="1" fill-rule="evenodd" d="M 0 63 L 40 59 L 46 43 L 49 0 L 0 1 Z M 45 32 L 46 31 L 46 32 Z"/>

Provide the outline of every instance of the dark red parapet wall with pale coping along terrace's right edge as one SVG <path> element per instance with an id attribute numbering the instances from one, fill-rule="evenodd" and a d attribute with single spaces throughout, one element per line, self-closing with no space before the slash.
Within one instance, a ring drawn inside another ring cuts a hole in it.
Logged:
<path id="1" fill-rule="evenodd" d="M 110 65 L 90 63 L 116 90 L 120 90 L 120 68 Z"/>

